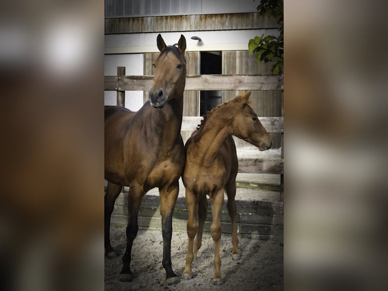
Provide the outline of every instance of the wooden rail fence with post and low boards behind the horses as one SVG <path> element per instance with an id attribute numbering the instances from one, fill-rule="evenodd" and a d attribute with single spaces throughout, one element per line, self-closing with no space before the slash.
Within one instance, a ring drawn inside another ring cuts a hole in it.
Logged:
<path id="1" fill-rule="evenodd" d="M 124 106 L 125 91 L 147 91 L 153 86 L 153 76 L 125 76 L 125 67 L 118 67 L 117 76 L 105 76 L 105 91 L 117 92 L 117 104 Z M 283 90 L 281 75 L 187 75 L 186 91 L 192 90 Z M 283 108 L 282 108 L 283 113 Z M 201 117 L 183 117 L 182 132 L 192 131 Z M 276 159 L 240 158 L 240 173 L 261 173 L 280 175 L 279 201 L 239 201 L 237 227 L 239 233 L 258 234 L 264 237 L 283 236 L 283 117 L 262 117 L 260 122 L 268 132 L 278 132 L 282 136 L 281 157 Z M 128 194 L 119 196 L 115 205 L 112 222 L 127 223 L 126 200 Z M 128 192 L 127 192 L 128 193 Z M 139 226 L 160 227 L 159 197 L 145 195 L 139 212 Z M 210 205 L 209 205 L 210 208 Z M 224 207 L 225 208 L 225 207 Z M 222 210 L 223 232 L 230 232 L 230 219 L 226 208 Z M 211 213 L 210 209 L 209 212 Z M 187 211 L 184 199 L 178 198 L 174 210 L 173 227 L 185 229 Z M 210 229 L 207 220 L 205 231 Z"/>

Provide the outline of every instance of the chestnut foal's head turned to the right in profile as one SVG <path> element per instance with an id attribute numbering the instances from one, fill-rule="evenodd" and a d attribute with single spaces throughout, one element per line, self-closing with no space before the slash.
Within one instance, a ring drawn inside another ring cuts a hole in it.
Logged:
<path id="1" fill-rule="evenodd" d="M 232 113 L 234 114 L 233 134 L 256 145 L 260 151 L 265 151 L 272 146 L 272 140 L 257 118 L 257 114 L 249 105 L 250 95 L 251 91 L 245 94 L 241 90 L 240 94 L 235 97 L 234 101 L 237 107 L 236 111 Z"/>

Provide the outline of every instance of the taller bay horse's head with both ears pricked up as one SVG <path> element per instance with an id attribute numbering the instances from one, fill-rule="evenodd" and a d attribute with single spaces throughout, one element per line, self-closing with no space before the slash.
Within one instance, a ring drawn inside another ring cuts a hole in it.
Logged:
<path id="1" fill-rule="evenodd" d="M 180 35 L 178 47 L 166 46 L 162 35 L 157 37 L 159 57 L 154 61 L 155 75 L 154 84 L 149 90 L 148 99 L 155 108 L 162 108 L 167 100 L 183 98 L 186 83 L 186 39 Z"/>

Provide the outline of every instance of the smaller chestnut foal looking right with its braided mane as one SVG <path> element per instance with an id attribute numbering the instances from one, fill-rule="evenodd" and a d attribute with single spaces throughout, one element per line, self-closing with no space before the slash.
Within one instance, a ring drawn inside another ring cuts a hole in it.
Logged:
<path id="1" fill-rule="evenodd" d="M 213 223 L 210 231 L 215 251 L 214 284 L 223 283 L 219 243 L 221 238 L 220 213 L 224 201 L 224 190 L 228 198 L 226 206 L 232 225 L 232 259 L 240 259 L 235 222 L 236 176 L 239 162 L 232 135 L 256 145 L 260 151 L 268 150 L 272 145 L 268 132 L 248 104 L 250 95 L 251 91 L 247 94 L 241 91 L 234 99 L 214 108 L 185 144 L 186 164 L 182 179 L 186 188 L 188 247 L 183 279 L 191 278 L 191 264 L 201 247 L 207 212 L 206 195 L 209 195 L 212 204 Z M 197 211 L 198 225 L 196 223 Z"/>

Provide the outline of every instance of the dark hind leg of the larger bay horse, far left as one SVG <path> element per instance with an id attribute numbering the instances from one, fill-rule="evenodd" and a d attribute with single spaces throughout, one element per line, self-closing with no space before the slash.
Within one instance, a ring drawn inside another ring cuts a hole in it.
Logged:
<path id="1" fill-rule="evenodd" d="M 116 201 L 119 196 L 122 185 L 113 184 L 108 182 L 108 187 L 106 188 L 106 194 L 104 197 L 104 239 L 105 239 L 105 251 L 108 258 L 116 257 L 117 254 L 113 251 L 112 246 L 110 245 L 110 215 L 112 214 L 114 201 Z"/>

